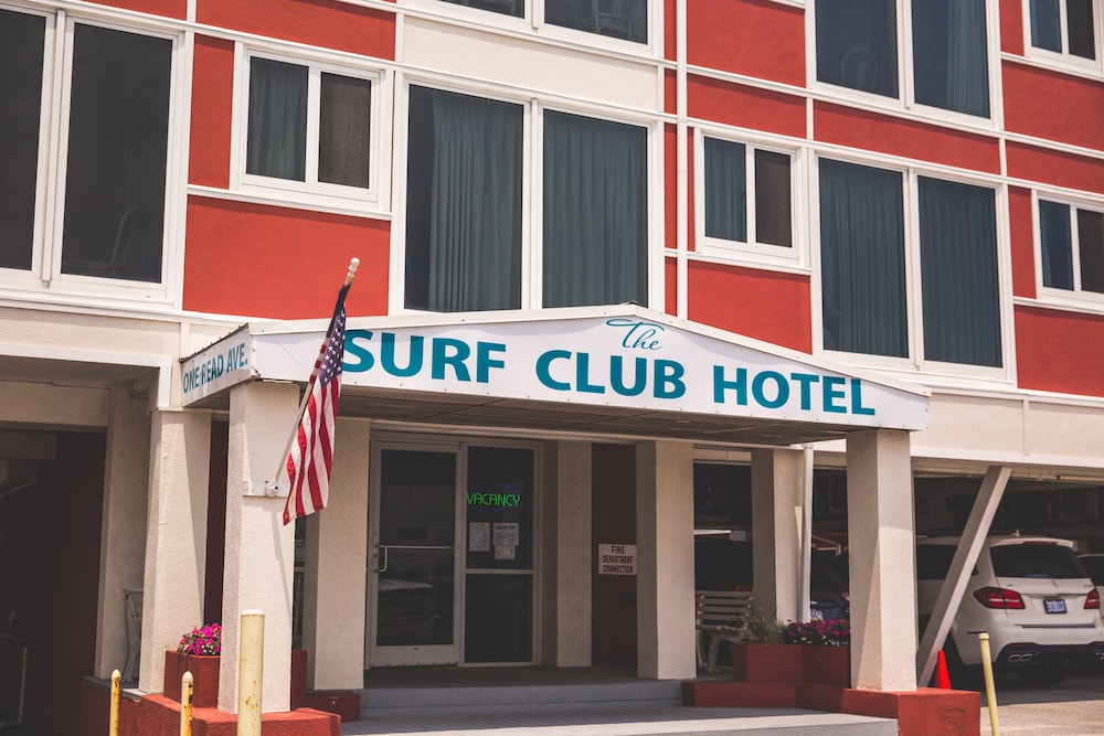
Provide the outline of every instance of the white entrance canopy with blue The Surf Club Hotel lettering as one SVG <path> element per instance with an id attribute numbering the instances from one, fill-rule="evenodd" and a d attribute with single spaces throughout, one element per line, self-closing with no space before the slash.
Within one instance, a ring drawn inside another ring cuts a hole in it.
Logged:
<path id="1" fill-rule="evenodd" d="M 251 322 L 181 361 L 181 403 L 306 383 L 327 323 Z M 341 414 L 793 445 L 927 426 L 928 392 L 633 305 L 353 318 Z"/>

